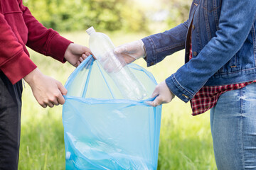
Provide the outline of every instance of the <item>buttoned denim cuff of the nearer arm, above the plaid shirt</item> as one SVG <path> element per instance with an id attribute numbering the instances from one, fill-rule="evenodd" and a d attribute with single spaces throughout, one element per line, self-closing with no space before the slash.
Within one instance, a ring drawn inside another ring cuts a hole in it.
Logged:
<path id="1" fill-rule="evenodd" d="M 174 74 L 172 74 L 171 77 L 168 77 L 166 79 L 166 84 L 169 87 L 170 91 L 173 94 L 175 94 L 175 96 L 177 96 L 178 98 L 181 98 L 181 100 L 185 103 L 187 103 L 193 98 L 193 94 L 184 89 L 183 86 L 181 86 L 181 84 L 178 83 Z"/>

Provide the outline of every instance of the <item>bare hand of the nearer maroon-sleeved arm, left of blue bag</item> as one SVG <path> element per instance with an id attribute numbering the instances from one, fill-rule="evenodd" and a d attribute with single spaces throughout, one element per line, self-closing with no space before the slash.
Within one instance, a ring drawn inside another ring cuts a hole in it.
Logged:
<path id="1" fill-rule="evenodd" d="M 43 108 L 47 106 L 52 108 L 54 105 L 65 103 L 63 95 L 67 94 L 67 89 L 60 81 L 43 75 L 38 68 L 26 75 L 24 79 L 31 86 L 33 96 Z"/>

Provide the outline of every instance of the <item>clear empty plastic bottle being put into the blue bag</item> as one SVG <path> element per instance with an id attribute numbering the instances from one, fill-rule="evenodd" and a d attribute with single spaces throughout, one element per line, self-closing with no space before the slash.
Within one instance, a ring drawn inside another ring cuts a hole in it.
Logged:
<path id="1" fill-rule="evenodd" d="M 114 44 L 104 33 L 96 32 L 93 27 L 86 30 L 90 35 L 89 46 L 92 54 L 113 79 L 124 98 L 142 100 L 146 90 L 142 83 L 132 74 L 122 57 L 114 54 Z"/>

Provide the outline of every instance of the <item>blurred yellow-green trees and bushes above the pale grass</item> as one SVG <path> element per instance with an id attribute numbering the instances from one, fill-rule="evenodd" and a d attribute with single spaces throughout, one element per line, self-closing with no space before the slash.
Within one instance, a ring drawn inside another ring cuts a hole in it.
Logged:
<path id="1" fill-rule="evenodd" d="M 85 30 L 95 26 L 97 30 L 149 32 L 149 27 L 159 25 L 159 21 L 152 19 L 154 13 L 159 11 L 168 11 L 168 16 L 163 19 L 159 16 L 160 21 L 168 27 L 176 26 L 188 17 L 190 1 L 149 1 L 23 0 L 23 4 L 28 6 L 33 16 L 43 23 L 43 26 L 58 31 Z"/>

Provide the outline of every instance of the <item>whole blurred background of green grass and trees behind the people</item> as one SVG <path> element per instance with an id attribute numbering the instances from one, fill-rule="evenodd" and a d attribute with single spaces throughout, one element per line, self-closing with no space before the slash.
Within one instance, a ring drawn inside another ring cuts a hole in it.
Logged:
<path id="1" fill-rule="evenodd" d="M 88 46 L 85 29 L 95 26 L 110 36 L 115 45 L 144 38 L 186 20 L 191 1 L 178 0 L 26 0 L 39 21 L 55 28 L 65 38 Z M 161 4 L 161 3 L 163 4 Z M 104 12 L 103 12 L 104 11 Z M 102 14 L 104 13 L 104 14 Z M 70 64 L 30 50 L 41 72 L 63 84 L 75 69 Z M 153 67 L 136 63 L 164 81 L 183 64 L 184 52 L 166 57 Z M 18 169 L 65 169 L 62 106 L 41 108 L 28 84 L 23 89 L 21 149 Z M 163 106 L 159 145 L 159 170 L 216 169 L 210 135 L 209 113 L 191 116 L 189 103 L 174 98 Z"/>

